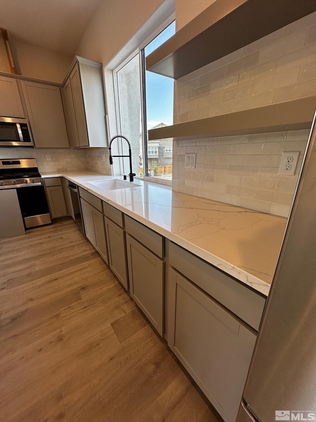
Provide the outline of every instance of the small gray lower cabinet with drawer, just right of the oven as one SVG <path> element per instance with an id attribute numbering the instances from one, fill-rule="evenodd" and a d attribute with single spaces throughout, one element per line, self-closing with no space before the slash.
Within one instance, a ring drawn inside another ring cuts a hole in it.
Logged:
<path id="1" fill-rule="evenodd" d="M 44 185 L 51 218 L 68 215 L 61 178 L 44 179 Z"/>

